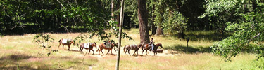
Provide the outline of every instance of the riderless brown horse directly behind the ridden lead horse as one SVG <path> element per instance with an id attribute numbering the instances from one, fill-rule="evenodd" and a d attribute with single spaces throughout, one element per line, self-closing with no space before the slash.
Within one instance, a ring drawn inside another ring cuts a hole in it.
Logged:
<path id="1" fill-rule="evenodd" d="M 130 54 L 130 50 L 134 50 L 134 53 L 137 52 L 137 55 L 138 55 L 138 50 L 139 50 L 140 47 L 142 47 L 142 45 L 143 44 L 138 44 L 138 45 L 125 45 L 124 52 L 126 53 L 128 51 L 128 54 Z"/>

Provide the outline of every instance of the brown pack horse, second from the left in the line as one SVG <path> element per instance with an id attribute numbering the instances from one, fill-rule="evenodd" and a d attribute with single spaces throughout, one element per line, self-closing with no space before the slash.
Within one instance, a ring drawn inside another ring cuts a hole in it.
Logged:
<path id="1" fill-rule="evenodd" d="M 80 52 L 81 52 L 81 54 L 83 53 L 83 49 L 86 49 L 87 50 L 87 52 L 88 52 L 88 49 L 89 49 L 89 52 L 92 50 L 93 51 L 93 55 L 94 55 L 94 50 L 93 50 L 93 48 L 95 47 L 96 48 L 96 43 L 94 42 L 94 43 L 90 43 L 89 44 L 89 48 L 84 48 L 84 44 L 85 43 L 82 43 L 81 45 L 80 45 Z M 87 53 L 86 52 L 86 53 Z"/>

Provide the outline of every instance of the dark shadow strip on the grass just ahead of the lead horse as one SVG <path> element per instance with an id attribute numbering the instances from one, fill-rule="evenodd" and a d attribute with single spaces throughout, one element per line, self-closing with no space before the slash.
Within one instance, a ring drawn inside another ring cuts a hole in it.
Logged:
<path id="1" fill-rule="evenodd" d="M 203 48 L 203 47 L 197 47 L 197 48 L 194 48 L 193 46 L 188 46 L 188 48 L 184 45 L 174 45 L 174 46 L 170 46 L 170 47 L 165 47 L 163 48 L 164 50 L 176 50 L 176 51 L 179 51 L 179 52 L 185 52 L 185 53 L 201 53 L 201 52 L 211 52 L 212 51 L 212 48 L 210 47 L 206 47 L 206 48 Z"/>

